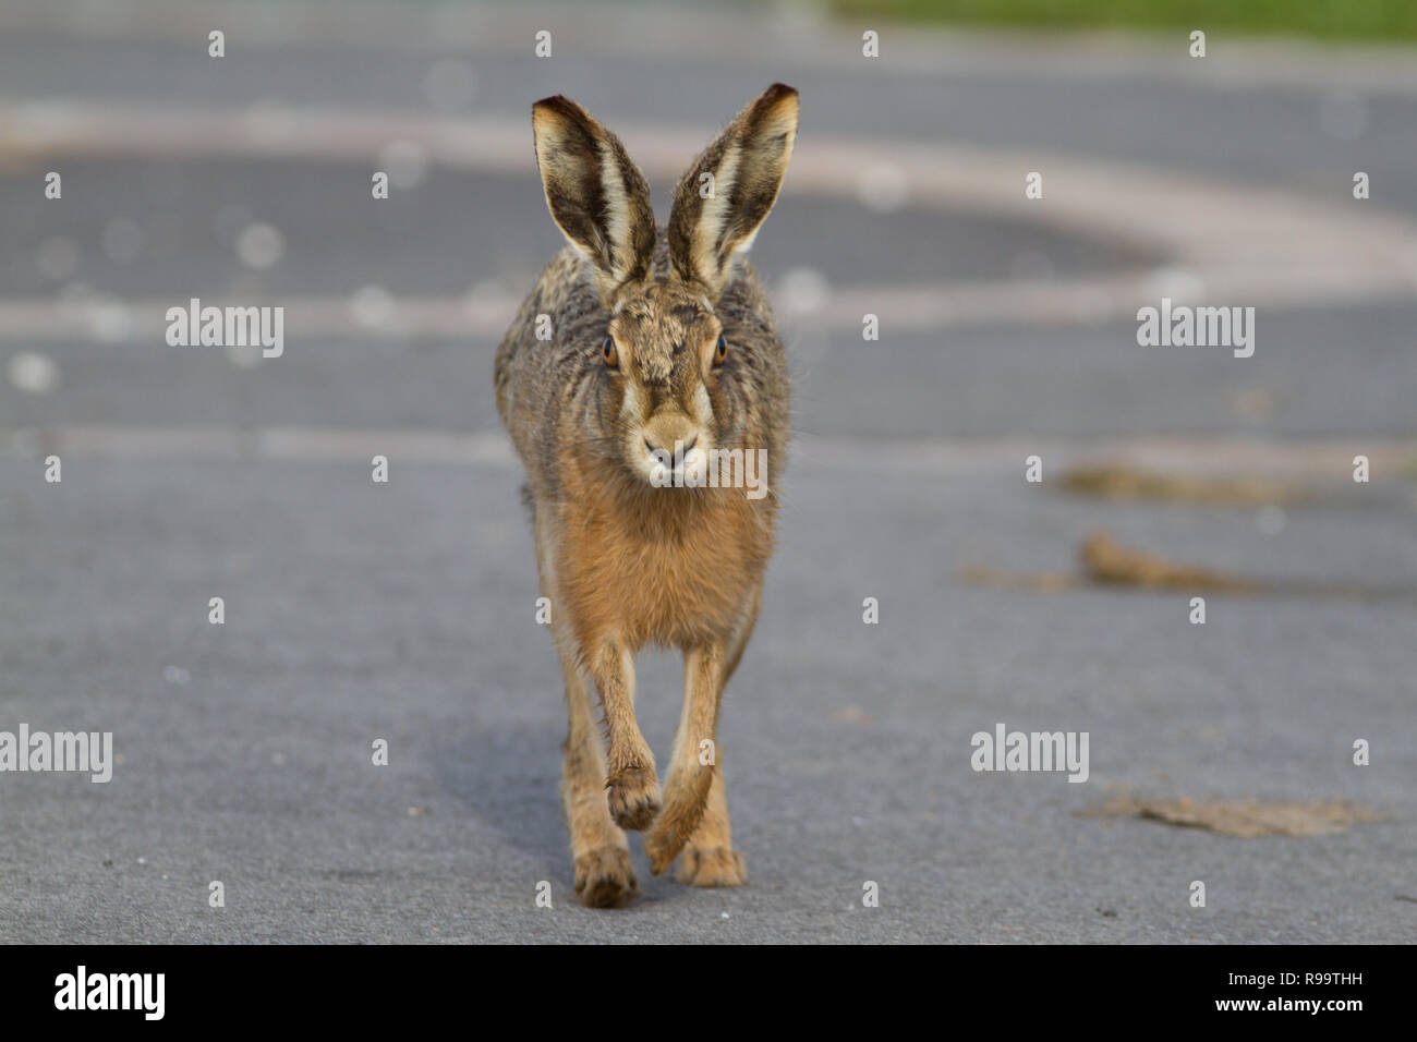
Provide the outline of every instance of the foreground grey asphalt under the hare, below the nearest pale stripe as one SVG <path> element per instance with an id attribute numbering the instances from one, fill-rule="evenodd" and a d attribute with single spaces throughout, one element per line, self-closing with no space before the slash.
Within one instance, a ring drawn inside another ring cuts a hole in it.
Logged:
<path id="1" fill-rule="evenodd" d="M 112 730 L 122 761 L 108 785 L 4 778 L 7 940 L 1411 939 L 1410 598 L 1219 598 L 1200 628 L 1175 595 L 962 587 L 979 559 L 1064 566 L 1095 508 L 803 465 L 724 712 L 751 885 L 691 890 L 640 861 L 645 900 L 611 916 L 570 892 L 558 666 L 510 468 L 395 464 L 381 488 L 359 464 L 92 462 L 58 489 L 33 469 L 3 468 L 6 712 Z M 1374 581 L 1411 540 L 1360 510 L 1297 519 L 1284 550 L 1226 512 L 1110 522 L 1217 566 Z M 643 663 L 657 749 L 679 692 L 670 658 Z M 1090 732 L 1088 783 L 975 774 L 969 736 L 995 722 Z M 1383 766 L 1346 767 L 1350 736 Z M 1241 841 L 1074 817 L 1127 790 L 1394 818 Z"/>

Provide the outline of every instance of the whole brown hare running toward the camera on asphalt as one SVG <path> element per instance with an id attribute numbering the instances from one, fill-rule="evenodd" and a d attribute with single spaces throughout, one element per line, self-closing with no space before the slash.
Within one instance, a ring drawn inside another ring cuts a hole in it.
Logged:
<path id="1" fill-rule="evenodd" d="M 571 245 L 507 330 L 496 391 L 527 471 L 565 675 L 575 890 L 592 907 L 635 897 L 623 829 L 645 831 L 656 875 L 677 856 L 683 882 L 738 886 L 718 705 L 758 617 L 789 430 L 786 357 L 740 255 L 777 201 L 798 94 L 774 84 L 738 113 L 684 174 L 667 227 L 619 139 L 580 105 L 540 101 L 531 125 L 546 201 Z M 768 468 L 757 491 L 743 481 L 751 461 Z M 635 722 L 645 645 L 684 656 L 663 797 Z"/>

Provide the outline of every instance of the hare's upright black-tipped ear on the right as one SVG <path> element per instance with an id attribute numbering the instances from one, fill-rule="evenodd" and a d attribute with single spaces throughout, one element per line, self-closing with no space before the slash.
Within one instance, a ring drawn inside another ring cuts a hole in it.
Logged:
<path id="1" fill-rule="evenodd" d="M 674 191 L 669 259 L 680 279 L 697 282 L 714 301 L 778 198 L 796 125 L 796 91 L 774 84 L 704 149 Z"/>

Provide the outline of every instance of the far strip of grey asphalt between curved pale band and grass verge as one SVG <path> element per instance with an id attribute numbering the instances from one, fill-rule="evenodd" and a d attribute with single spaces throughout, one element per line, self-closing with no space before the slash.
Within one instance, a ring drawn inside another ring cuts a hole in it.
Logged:
<path id="1" fill-rule="evenodd" d="M 547 7 L 555 10 L 554 4 Z M 751 11 L 751 4 L 747 7 Z M 548 24 L 555 24 L 555 16 L 548 14 Z M 487 28 L 495 26 L 493 20 Z M 884 31 L 890 47 L 896 31 Z M 1067 61 L 1057 41 L 1040 45 L 1037 54 L 981 47 L 976 57 L 982 55 L 983 68 L 968 72 L 948 64 L 922 72 L 891 62 L 887 52 L 877 64 L 854 62 L 843 75 L 845 64 L 823 68 L 816 61 L 819 51 L 803 41 L 806 34 L 792 27 L 752 33 L 768 43 L 751 57 L 745 57 L 743 41 L 723 55 L 683 55 L 666 54 L 660 40 L 616 52 L 614 62 L 598 57 L 608 37 L 633 34 L 632 21 L 606 18 L 595 33 L 563 37 L 554 62 L 529 62 L 509 54 L 510 47 L 489 51 L 478 38 L 496 37 L 487 31 L 448 35 L 449 43 L 434 45 L 431 52 L 384 43 L 332 48 L 324 41 L 305 47 L 295 41 L 279 50 L 249 48 L 239 62 L 215 67 L 186 40 L 16 34 L 0 40 L 0 84 L 48 98 L 427 108 L 432 61 L 470 55 L 479 112 L 520 115 L 527 98 L 561 92 L 594 98 L 598 111 L 625 122 L 650 118 L 717 125 L 726 121 L 723 99 L 743 95 L 758 81 L 791 78 L 812 99 L 808 128 L 816 133 L 845 129 L 867 139 L 948 138 L 1165 162 L 1278 184 L 1329 186 L 1339 193 L 1352 172 L 1362 169 L 1384 186 L 1386 207 L 1417 210 L 1417 170 L 1408 145 L 1417 135 L 1417 112 L 1410 84 L 1404 91 L 1356 89 L 1315 69 L 1299 85 L 1234 91 L 1224 78 L 1207 74 L 1206 60 L 1185 58 L 1185 43 L 1173 57 L 1148 54 L 1155 61 L 1152 75 L 1093 78 L 1084 54 L 1066 74 L 1049 74 L 1047 62 Z M 35 40 L 41 45 L 35 47 Z M 1212 34 L 1212 48 L 1217 41 Z M 843 50 L 849 45 L 847 37 Z M 764 50 L 774 52 L 767 57 Z M 1000 55 L 993 71 L 988 68 L 990 54 Z M 1216 61 L 1223 62 L 1224 55 Z M 1060 81 L 1067 82 L 1063 91 L 1057 89 Z M 653 82 L 653 89 L 645 89 L 646 82 Z"/>

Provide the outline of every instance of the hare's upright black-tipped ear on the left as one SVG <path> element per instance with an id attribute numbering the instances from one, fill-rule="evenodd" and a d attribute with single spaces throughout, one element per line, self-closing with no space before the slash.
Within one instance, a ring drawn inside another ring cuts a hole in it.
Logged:
<path id="1" fill-rule="evenodd" d="M 595 267 L 595 286 L 609 305 L 626 282 L 649 276 L 655 214 L 645 176 L 619 139 L 570 98 L 533 105 L 531 130 L 551 217 Z"/>

